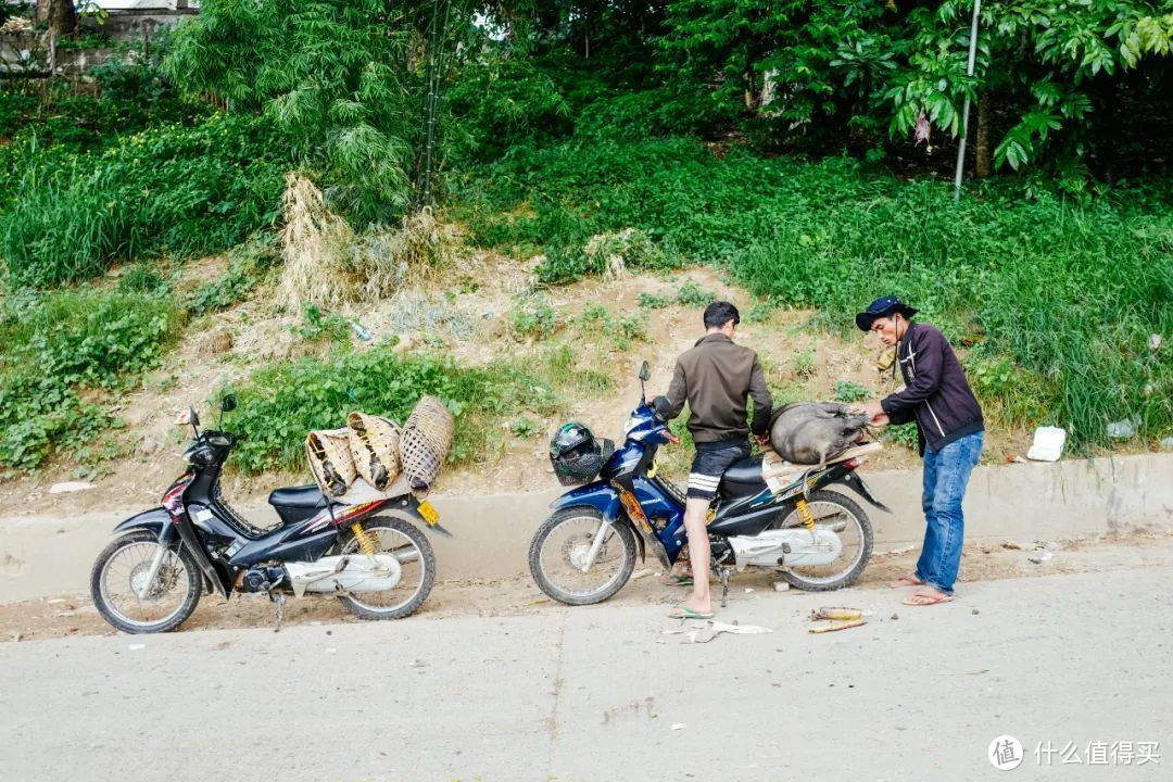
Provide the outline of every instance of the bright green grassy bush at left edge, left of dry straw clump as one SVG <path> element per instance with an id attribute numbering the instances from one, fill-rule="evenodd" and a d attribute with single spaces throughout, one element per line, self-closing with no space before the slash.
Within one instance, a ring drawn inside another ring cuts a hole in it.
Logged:
<path id="1" fill-rule="evenodd" d="M 122 258 L 232 246 L 278 216 L 283 149 L 267 123 L 218 116 L 128 136 L 100 154 L 34 157 L 0 213 L 9 279 L 61 285 Z"/>

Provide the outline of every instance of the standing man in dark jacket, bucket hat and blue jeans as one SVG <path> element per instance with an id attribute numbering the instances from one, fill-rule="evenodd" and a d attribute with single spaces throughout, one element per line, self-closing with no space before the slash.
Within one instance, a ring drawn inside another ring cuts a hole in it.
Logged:
<path id="1" fill-rule="evenodd" d="M 924 458 L 924 545 L 916 572 L 893 586 L 918 587 L 904 599 L 907 605 L 935 605 L 952 599 L 965 532 L 961 504 L 982 455 L 985 427 L 949 342 L 933 326 L 913 322 L 916 310 L 889 295 L 855 315 L 855 325 L 895 346 L 904 379 L 904 388 L 869 402 L 863 410 L 876 426 L 915 421 Z"/>

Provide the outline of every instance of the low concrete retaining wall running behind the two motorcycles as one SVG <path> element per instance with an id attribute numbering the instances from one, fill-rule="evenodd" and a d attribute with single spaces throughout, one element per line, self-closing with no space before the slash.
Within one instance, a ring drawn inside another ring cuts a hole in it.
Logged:
<path id="1" fill-rule="evenodd" d="M 869 509 L 876 550 L 918 544 L 924 532 L 920 470 L 863 475 L 893 514 Z M 527 571 L 534 529 L 560 490 L 487 496 L 435 496 L 443 524 L 434 536 L 440 578 L 501 578 Z M 865 506 L 867 506 L 865 504 Z M 18 517 L 0 522 L 0 601 L 88 589 L 96 553 L 122 509 L 76 518 Z M 259 522 L 267 506 L 244 505 Z M 965 497 L 968 540 L 1083 537 L 1146 526 L 1173 528 L 1173 454 L 1119 456 L 1056 464 L 983 467 Z"/>

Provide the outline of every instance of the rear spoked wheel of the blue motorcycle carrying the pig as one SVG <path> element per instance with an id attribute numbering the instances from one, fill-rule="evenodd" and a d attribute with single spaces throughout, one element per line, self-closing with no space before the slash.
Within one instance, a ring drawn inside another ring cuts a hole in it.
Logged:
<path id="1" fill-rule="evenodd" d="M 838 491 L 820 489 L 807 501 L 815 526 L 833 531 L 842 543 L 834 562 L 826 565 L 794 565 L 782 571 L 782 578 L 800 590 L 828 592 L 850 585 L 860 577 L 872 557 L 872 522 L 852 498 Z M 792 510 L 777 529 L 799 526 L 798 509 Z"/>

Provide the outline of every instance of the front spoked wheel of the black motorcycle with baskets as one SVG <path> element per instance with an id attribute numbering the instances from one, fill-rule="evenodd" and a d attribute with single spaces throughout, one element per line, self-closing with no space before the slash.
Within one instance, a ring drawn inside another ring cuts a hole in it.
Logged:
<path id="1" fill-rule="evenodd" d="M 89 592 L 99 613 L 126 633 L 165 633 L 199 601 L 201 576 L 185 549 L 168 549 L 152 583 L 158 538 L 141 530 L 110 542 L 94 563 Z"/>

